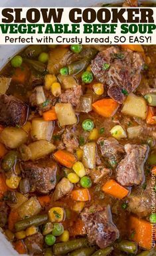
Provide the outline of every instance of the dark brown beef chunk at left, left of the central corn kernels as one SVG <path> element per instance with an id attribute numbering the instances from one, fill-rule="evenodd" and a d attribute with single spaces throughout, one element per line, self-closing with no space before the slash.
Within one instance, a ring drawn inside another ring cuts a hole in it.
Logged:
<path id="1" fill-rule="evenodd" d="M 21 164 L 23 178 L 28 178 L 30 185 L 40 193 L 48 193 L 56 185 L 56 164 L 52 160 L 25 162 Z"/>

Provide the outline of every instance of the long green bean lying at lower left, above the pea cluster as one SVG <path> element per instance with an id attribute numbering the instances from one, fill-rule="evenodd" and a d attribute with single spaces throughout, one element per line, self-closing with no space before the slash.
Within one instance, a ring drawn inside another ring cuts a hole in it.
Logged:
<path id="1" fill-rule="evenodd" d="M 47 214 L 36 215 L 33 217 L 22 219 L 21 221 L 17 221 L 17 223 L 15 223 L 15 230 L 18 232 L 21 230 L 25 230 L 27 227 L 31 227 L 32 225 L 39 226 L 46 223 L 46 221 L 48 221 Z"/>

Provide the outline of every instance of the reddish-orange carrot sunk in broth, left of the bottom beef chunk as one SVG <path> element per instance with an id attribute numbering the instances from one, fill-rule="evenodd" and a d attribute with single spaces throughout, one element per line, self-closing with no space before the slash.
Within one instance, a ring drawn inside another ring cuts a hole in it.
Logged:
<path id="1" fill-rule="evenodd" d="M 69 229 L 70 236 L 75 237 L 76 235 L 86 235 L 86 229 L 84 221 L 82 219 L 77 219 L 74 225 Z"/>

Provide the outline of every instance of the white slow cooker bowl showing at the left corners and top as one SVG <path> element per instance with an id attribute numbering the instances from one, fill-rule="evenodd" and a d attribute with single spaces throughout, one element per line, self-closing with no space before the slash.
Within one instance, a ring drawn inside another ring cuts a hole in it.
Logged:
<path id="1" fill-rule="evenodd" d="M 143 0 L 144 1 L 144 0 Z M 150 1 L 150 0 L 149 0 Z M 87 7 L 98 3 L 119 3 L 119 0 L 1 0 L 0 7 Z M 156 0 L 151 0 L 156 2 Z M 0 45 L 0 68 L 2 68 L 15 53 L 23 49 L 23 45 Z M 19 256 L 13 246 L 0 232 L 0 256 Z M 27 256 L 27 255 L 25 255 Z"/>

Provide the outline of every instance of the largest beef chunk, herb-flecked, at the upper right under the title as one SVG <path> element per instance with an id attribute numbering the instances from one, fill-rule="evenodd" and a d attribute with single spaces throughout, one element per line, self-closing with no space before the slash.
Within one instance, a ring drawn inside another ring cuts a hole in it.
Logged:
<path id="1" fill-rule="evenodd" d="M 125 94 L 139 86 L 143 63 L 140 53 L 110 47 L 96 55 L 91 68 L 96 79 L 108 87 L 108 95 L 121 104 Z"/>

